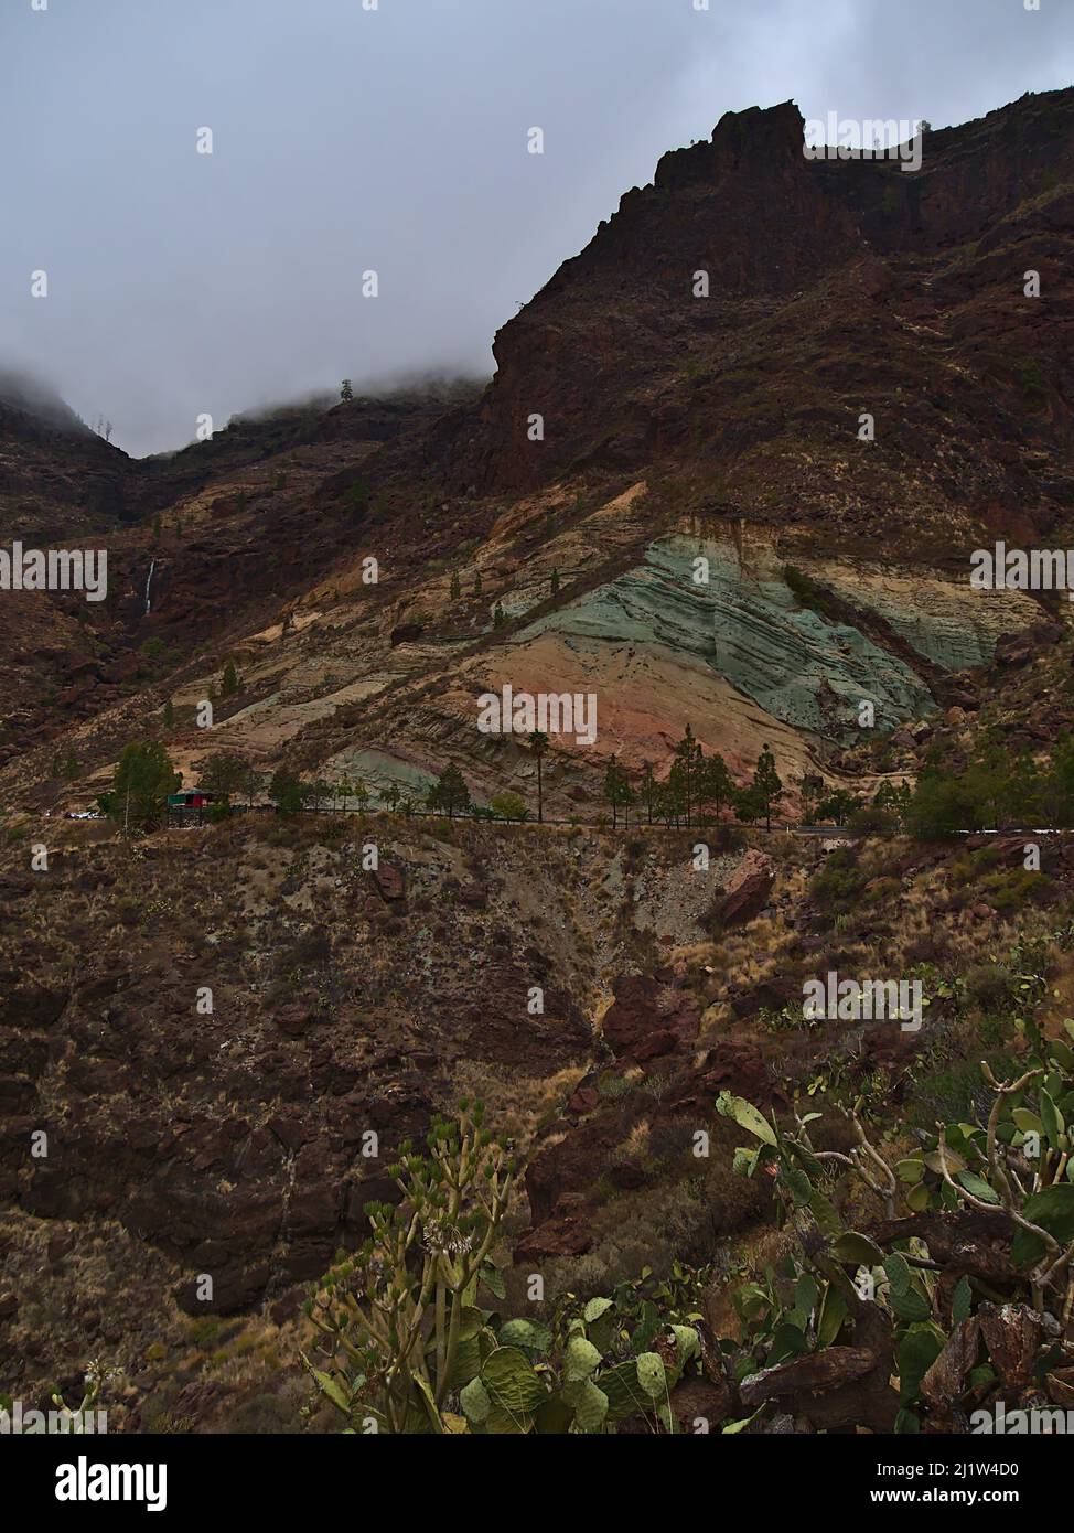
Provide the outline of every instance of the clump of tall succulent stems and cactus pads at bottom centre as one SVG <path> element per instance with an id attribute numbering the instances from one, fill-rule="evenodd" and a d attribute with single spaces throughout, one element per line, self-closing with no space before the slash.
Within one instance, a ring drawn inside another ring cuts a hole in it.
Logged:
<path id="1" fill-rule="evenodd" d="M 369 1237 L 311 1294 L 323 1366 L 303 1361 L 352 1433 L 607 1433 L 628 1418 L 677 1432 L 673 1390 L 700 1374 L 706 1272 L 643 1272 L 613 1297 L 555 1308 L 550 1325 L 483 1308 L 506 1288 L 490 1260 L 516 1168 L 480 1104 L 438 1121 L 426 1154 L 392 1168 L 401 1202 L 371 1203 Z"/>

